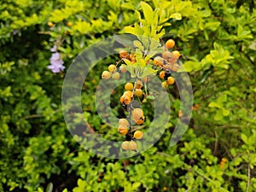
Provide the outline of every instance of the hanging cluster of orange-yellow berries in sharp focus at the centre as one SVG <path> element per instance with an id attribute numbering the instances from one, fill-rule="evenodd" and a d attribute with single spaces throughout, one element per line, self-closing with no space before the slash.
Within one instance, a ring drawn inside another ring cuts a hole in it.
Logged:
<path id="1" fill-rule="evenodd" d="M 148 91 L 149 77 L 154 77 L 160 71 L 160 79 L 165 80 L 161 84 L 162 87 L 167 88 L 168 85 L 175 83 L 172 73 L 177 72 L 181 55 L 179 51 L 172 50 L 174 45 L 174 40 L 169 39 L 163 46 L 161 55 L 150 57 L 145 54 L 146 51 L 142 51 L 140 55 L 137 50 L 134 54 L 122 49 L 119 51 L 120 60 L 116 62 L 116 65 L 111 64 L 108 66 L 108 71 L 102 72 L 102 79 L 106 80 L 119 79 L 120 73 L 127 72 L 135 78 L 134 83 L 127 82 L 125 84 L 124 93 L 119 97 L 121 105 L 128 112 L 127 119 L 119 119 L 118 126 L 119 134 L 127 138 L 127 141 L 121 144 L 121 148 L 124 150 L 135 151 L 137 149 L 136 140 L 143 139 L 143 131 L 140 131 L 141 126 L 139 125 L 143 125 L 145 117 L 143 109 L 134 105 L 134 101 L 142 103 L 144 98 L 150 96 Z M 118 67 L 119 69 L 117 69 Z M 137 126 L 139 127 L 137 128 Z"/>

